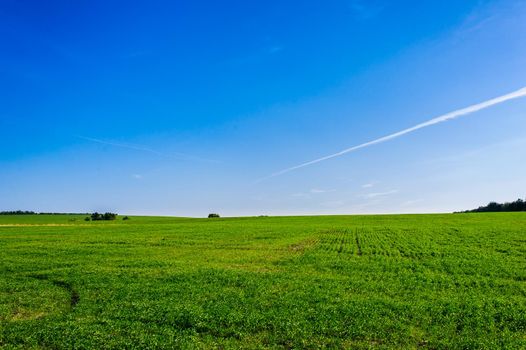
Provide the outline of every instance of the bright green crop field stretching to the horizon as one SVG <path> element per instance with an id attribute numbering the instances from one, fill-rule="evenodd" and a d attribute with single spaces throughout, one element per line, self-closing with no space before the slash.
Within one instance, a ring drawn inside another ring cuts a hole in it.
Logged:
<path id="1" fill-rule="evenodd" d="M 526 213 L 0 216 L 2 348 L 526 348 Z"/>

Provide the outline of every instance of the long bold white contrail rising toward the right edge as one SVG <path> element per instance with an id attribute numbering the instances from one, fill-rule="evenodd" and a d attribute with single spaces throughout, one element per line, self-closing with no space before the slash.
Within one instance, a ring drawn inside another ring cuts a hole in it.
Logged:
<path id="1" fill-rule="evenodd" d="M 438 117 L 433 118 L 431 120 L 428 120 L 426 122 L 417 124 L 417 125 L 412 126 L 410 128 L 407 128 L 407 129 L 395 132 L 393 134 L 390 134 L 390 135 L 387 135 L 387 136 L 384 136 L 384 137 L 380 137 L 379 139 L 372 140 L 372 141 L 369 141 L 369 142 L 366 142 L 366 143 L 362 143 L 360 145 L 353 146 L 353 147 L 350 147 L 350 148 L 346 148 L 346 149 L 344 149 L 344 150 L 342 150 L 342 151 L 340 151 L 338 153 L 330 154 L 330 155 L 325 156 L 325 157 L 314 159 L 314 160 L 311 160 L 309 162 L 302 163 L 300 165 L 296 165 L 296 166 L 293 166 L 293 167 L 290 167 L 290 168 L 287 168 L 287 169 L 280 170 L 280 171 L 275 172 L 275 173 L 273 173 L 273 174 L 271 174 L 271 175 L 269 175 L 269 176 L 267 176 L 267 177 L 265 177 L 265 178 L 263 178 L 261 180 L 265 180 L 265 179 L 268 179 L 268 178 L 271 178 L 271 177 L 274 177 L 274 176 L 283 175 L 285 173 L 288 173 L 288 172 L 296 170 L 296 169 L 304 168 L 304 167 L 312 165 L 312 164 L 323 162 L 324 160 L 327 160 L 327 159 L 339 157 L 339 156 L 342 156 L 344 154 L 347 154 L 347 153 L 359 150 L 361 148 L 365 148 L 365 147 L 376 145 L 376 144 L 379 144 L 379 143 L 382 143 L 382 142 L 386 142 L 386 141 L 395 139 L 397 137 L 403 136 L 405 134 L 409 134 L 409 133 L 411 133 L 413 131 L 416 131 L 416 130 L 419 130 L 419 129 L 423 129 L 423 128 L 426 128 L 426 127 L 431 126 L 431 125 L 447 122 L 449 120 L 453 120 L 453 119 L 462 117 L 464 115 L 468 115 L 468 114 L 480 111 L 482 109 L 485 109 L 485 108 L 497 105 L 499 103 L 503 103 L 503 102 L 506 102 L 506 101 L 509 101 L 509 100 L 513 100 L 513 99 L 516 99 L 516 98 L 520 98 L 520 97 L 524 97 L 524 96 L 526 96 L 526 87 L 523 87 L 522 89 L 519 89 L 517 91 L 514 91 L 512 93 L 509 93 L 509 94 L 506 94 L 506 95 L 503 95 L 503 96 L 495 97 L 495 98 L 493 98 L 491 100 L 488 100 L 488 101 L 485 101 L 485 102 L 481 102 L 481 103 L 478 103 L 478 104 L 475 104 L 475 105 L 472 105 L 472 106 L 469 106 L 469 107 L 465 107 L 465 108 L 458 109 L 458 110 L 453 111 L 453 112 L 449 112 L 447 114 L 443 114 L 441 116 L 438 116 Z"/>

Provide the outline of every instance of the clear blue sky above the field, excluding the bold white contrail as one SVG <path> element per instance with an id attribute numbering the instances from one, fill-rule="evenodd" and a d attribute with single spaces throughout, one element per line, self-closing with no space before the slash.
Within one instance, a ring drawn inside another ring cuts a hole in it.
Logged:
<path id="1" fill-rule="evenodd" d="M 526 1 L 0 4 L 0 210 L 448 212 L 526 195 Z M 260 181 L 260 179 L 264 180 Z"/>

